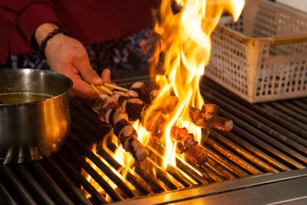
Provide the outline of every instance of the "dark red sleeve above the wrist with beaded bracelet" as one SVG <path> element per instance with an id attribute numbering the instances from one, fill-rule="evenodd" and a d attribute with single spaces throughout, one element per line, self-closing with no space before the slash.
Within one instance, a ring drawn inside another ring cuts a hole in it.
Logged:
<path id="1" fill-rule="evenodd" d="M 53 22 L 61 26 L 49 0 L 0 0 L 0 12 L 27 38 L 31 38 L 41 24 Z"/>

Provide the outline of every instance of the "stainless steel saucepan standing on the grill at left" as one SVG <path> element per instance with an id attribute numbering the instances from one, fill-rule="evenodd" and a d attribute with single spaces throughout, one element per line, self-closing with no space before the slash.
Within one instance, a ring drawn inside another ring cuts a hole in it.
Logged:
<path id="1" fill-rule="evenodd" d="M 0 70 L 0 96 L 45 95 L 31 103 L 0 105 L 0 163 L 37 160 L 57 152 L 71 128 L 70 78 L 32 69 Z"/>

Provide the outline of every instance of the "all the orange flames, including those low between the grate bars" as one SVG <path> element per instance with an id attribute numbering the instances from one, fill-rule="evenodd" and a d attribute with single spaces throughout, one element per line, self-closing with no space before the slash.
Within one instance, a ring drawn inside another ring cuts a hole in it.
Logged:
<path id="1" fill-rule="evenodd" d="M 152 153 L 155 153 L 163 160 L 163 165 L 158 165 L 158 162 L 147 157 L 147 161 L 155 165 L 155 168 L 151 167 L 148 172 L 156 174 L 156 168 L 159 166 L 167 170 L 168 164 L 176 167 L 176 157 L 193 169 L 183 160 L 183 155 L 176 154 L 176 142 L 171 140 L 170 130 L 172 126 L 185 127 L 189 133 L 194 134 L 197 141 L 201 141 L 201 128 L 196 127 L 187 120 L 187 113 L 189 106 L 200 109 L 204 104 L 204 100 L 200 94 L 199 83 L 201 77 L 204 75 L 205 66 L 210 57 L 210 34 L 216 27 L 223 12 L 232 14 L 234 19 L 237 20 L 244 4 L 244 0 L 162 0 L 160 8 L 157 11 L 158 20 L 153 29 L 155 33 L 159 34 L 160 39 L 159 42 L 156 43 L 156 50 L 150 58 L 150 69 L 151 73 L 155 73 L 152 71 L 157 68 L 161 56 L 160 54 L 163 52 L 164 75 L 156 75 L 156 83 L 159 85 L 161 92 L 159 96 L 152 101 L 150 108 L 154 109 L 163 105 L 165 96 L 171 94 L 176 95 L 180 102 L 175 111 L 166 116 L 169 118 L 169 122 L 165 130 L 165 144 L 162 145 L 166 150 L 165 153 L 160 153 L 158 150 L 147 146 Z M 137 130 L 138 140 L 144 146 L 147 145 L 150 140 L 150 133 L 147 132 L 138 121 L 133 126 Z M 109 141 L 118 147 L 115 152 L 107 148 L 106 145 Z M 114 168 L 112 168 L 113 172 L 120 178 L 125 180 L 127 172 L 134 174 L 132 168 L 134 159 L 129 154 L 125 153 L 121 145 L 118 144 L 118 139 L 115 135 L 110 134 L 105 137 L 103 148 L 123 166 L 123 170 L 114 170 Z M 103 160 L 103 158 L 101 158 L 101 160 Z M 94 169 L 98 169 L 90 160 L 89 163 Z M 107 164 L 107 162 L 105 163 Z M 201 175 L 198 171 L 194 171 Z M 112 187 L 116 188 L 116 185 L 101 171 L 99 171 L 99 173 L 101 173 L 101 176 L 103 176 L 105 180 L 109 181 Z M 94 187 L 99 187 L 99 185 L 97 185 L 90 176 L 86 175 L 85 172 L 83 176 L 85 176 Z M 186 175 L 186 177 L 188 176 Z M 192 179 L 190 180 L 194 181 Z M 125 181 L 129 184 L 127 180 Z M 107 195 L 101 188 L 100 191 L 104 196 Z"/>

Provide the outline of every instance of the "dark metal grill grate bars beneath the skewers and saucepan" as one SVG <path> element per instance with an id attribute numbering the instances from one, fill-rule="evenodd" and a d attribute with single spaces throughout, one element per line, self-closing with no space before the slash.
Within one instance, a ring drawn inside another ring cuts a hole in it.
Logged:
<path id="1" fill-rule="evenodd" d="M 128 86 L 143 78 L 124 79 Z M 63 148 L 53 156 L 17 165 L 0 166 L 0 199 L 7 204 L 104 204 L 110 202 L 97 187 L 81 175 L 85 170 L 112 201 L 146 197 L 210 183 L 253 175 L 271 174 L 307 166 L 307 98 L 252 105 L 204 78 L 201 92 L 207 103 L 220 106 L 220 115 L 234 121 L 231 132 L 208 129 L 203 142 L 209 160 L 202 167 L 187 161 L 195 172 L 177 159 L 177 167 L 158 168 L 157 177 L 146 170 L 157 166 L 159 153 L 149 148 L 149 157 L 135 163 L 134 173 L 126 174 L 127 185 L 108 165 L 119 173 L 126 168 L 113 156 L 116 145 L 102 149 L 101 142 L 109 128 L 91 109 L 93 100 L 72 97 L 72 130 Z M 96 154 L 91 145 L 97 143 Z M 85 158 L 90 159 L 117 188 L 113 188 Z M 171 175 L 172 177 L 169 177 Z M 186 177 L 188 175 L 190 178 Z M 81 186 L 92 197 L 86 198 Z M 131 188 L 134 187 L 135 189 Z M 2 197 L 2 198 L 1 198 Z M 5 204 L 5 203 L 4 203 Z"/>

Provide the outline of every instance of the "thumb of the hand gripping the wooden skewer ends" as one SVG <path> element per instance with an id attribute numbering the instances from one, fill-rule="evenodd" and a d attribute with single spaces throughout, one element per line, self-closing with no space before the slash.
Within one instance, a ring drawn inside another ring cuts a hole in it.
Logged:
<path id="1" fill-rule="evenodd" d="M 94 84 L 96 86 L 103 84 L 103 80 L 91 67 L 89 56 L 87 56 L 86 52 L 76 58 L 74 66 L 78 69 L 82 78 L 87 83 Z"/>

